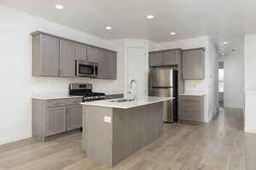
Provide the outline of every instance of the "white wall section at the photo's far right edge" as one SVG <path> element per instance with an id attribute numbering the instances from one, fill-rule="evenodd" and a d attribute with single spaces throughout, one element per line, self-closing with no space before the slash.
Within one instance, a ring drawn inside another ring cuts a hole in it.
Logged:
<path id="1" fill-rule="evenodd" d="M 244 46 L 245 131 L 256 133 L 256 34 L 245 36 Z"/>

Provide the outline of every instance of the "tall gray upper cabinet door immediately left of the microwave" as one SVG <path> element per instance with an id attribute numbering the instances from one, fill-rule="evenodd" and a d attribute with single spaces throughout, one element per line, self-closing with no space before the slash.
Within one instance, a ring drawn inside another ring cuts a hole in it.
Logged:
<path id="1" fill-rule="evenodd" d="M 75 77 L 76 43 L 60 41 L 60 77 Z"/>

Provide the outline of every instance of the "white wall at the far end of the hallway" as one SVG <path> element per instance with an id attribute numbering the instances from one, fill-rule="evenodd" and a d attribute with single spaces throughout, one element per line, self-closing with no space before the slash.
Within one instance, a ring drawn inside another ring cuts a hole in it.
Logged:
<path id="1" fill-rule="evenodd" d="M 243 109 L 244 54 L 220 56 L 224 61 L 224 106 Z"/>

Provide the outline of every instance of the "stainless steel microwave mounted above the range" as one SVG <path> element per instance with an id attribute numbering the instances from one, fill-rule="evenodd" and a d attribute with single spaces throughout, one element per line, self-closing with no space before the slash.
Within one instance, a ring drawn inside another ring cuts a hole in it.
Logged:
<path id="1" fill-rule="evenodd" d="M 77 77 L 97 77 L 98 64 L 84 60 L 76 60 L 76 76 Z"/>

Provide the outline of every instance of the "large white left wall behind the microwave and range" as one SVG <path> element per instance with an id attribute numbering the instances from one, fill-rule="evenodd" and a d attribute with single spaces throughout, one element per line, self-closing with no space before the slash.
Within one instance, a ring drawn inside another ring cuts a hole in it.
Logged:
<path id="1" fill-rule="evenodd" d="M 91 82 L 96 90 L 122 93 L 124 89 L 122 59 L 118 56 L 118 79 L 32 77 L 32 31 L 45 31 L 102 48 L 115 44 L 66 26 L 0 6 L 0 144 L 32 136 L 34 94 L 67 94 L 69 82 Z"/>

